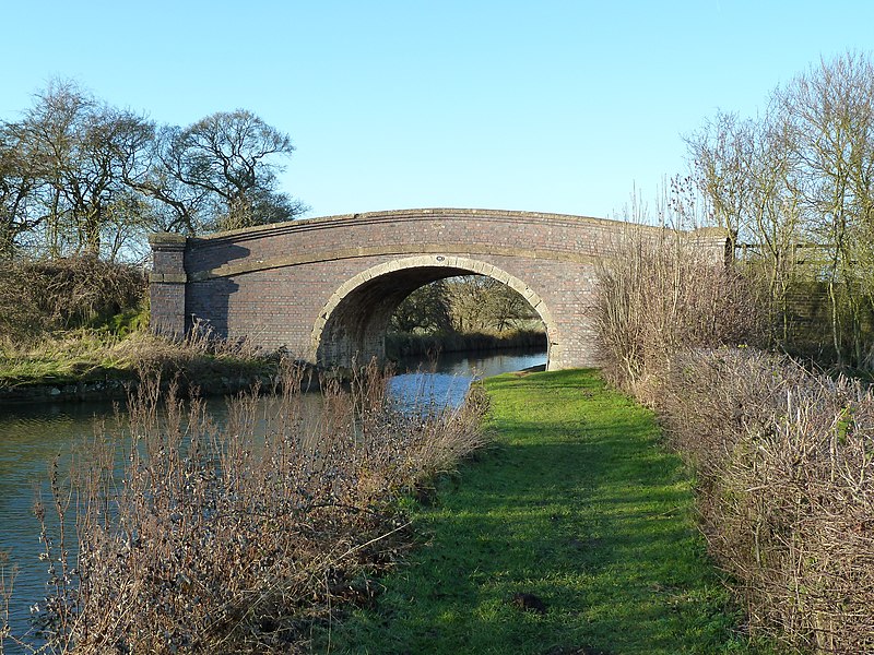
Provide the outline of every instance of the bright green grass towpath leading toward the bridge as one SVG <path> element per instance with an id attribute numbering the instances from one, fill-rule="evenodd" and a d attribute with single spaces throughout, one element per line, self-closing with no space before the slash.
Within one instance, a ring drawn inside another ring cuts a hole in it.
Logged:
<path id="1" fill-rule="evenodd" d="M 695 527 L 653 415 L 595 371 L 487 380 L 496 445 L 410 510 L 422 544 L 316 652 L 764 653 Z M 523 611 L 513 594 L 540 597 Z"/>

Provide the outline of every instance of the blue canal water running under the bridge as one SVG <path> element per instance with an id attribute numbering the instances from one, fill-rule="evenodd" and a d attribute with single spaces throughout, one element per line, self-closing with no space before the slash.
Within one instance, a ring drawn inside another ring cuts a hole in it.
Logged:
<path id="1" fill-rule="evenodd" d="M 402 361 L 389 382 L 390 393 L 402 405 L 421 403 L 424 396 L 438 406 L 458 406 L 472 380 L 545 361 L 542 350 L 448 353 L 436 362 Z M 318 402 L 318 397 L 314 395 L 312 401 Z M 211 401 L 209 408 L 221 424 L 226 412 L 224 401 Z M 92 436 L 96 425 L 105 421 L 110 426 L 115 420 L 114 405 L 108 402 L 0 407 L 0 552 L 9 555 L 7 583 L 10 567 L 19 568 L 10 604 L 10 622 L 17 634 L 27 630 L 28 608 L 46 595 L 45 563 L 38 559 L 39 526 L 33 515 L 35 490 L 46 488 L 52 460 L 69 460 L 73 445 Z M 1 604 L 2 598 L 0 611 Z M 16 652 L 12 644 L 5 647 L 7 653 Z"/>

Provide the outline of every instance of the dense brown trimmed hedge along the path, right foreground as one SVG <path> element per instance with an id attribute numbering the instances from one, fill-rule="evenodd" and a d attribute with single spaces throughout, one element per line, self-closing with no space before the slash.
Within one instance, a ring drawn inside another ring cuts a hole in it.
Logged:
<path id="1" fill-rule="evenodd" d="M 874 651 L 872 392 L 721 349 L 677 357 L 660 406 L 752 626 L 820 653 Z"/>

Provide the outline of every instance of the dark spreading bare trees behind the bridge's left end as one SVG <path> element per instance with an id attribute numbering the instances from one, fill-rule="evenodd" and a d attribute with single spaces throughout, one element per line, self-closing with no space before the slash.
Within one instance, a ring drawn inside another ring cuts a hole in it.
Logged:
<path id="1" fill-rule="evenodd" d="M 0 257 L 130 258 L 149 231 L 198 235 L 308 210 L 277 189 L 287 134 L 243 109 L 161 127 L 69 81 L 0 122 Z"/>

